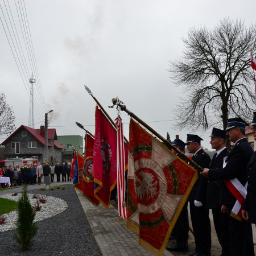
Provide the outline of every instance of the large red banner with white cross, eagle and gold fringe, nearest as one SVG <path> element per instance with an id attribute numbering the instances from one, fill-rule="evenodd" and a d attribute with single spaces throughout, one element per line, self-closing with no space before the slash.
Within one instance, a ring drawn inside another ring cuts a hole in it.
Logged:
<path id="1" fill-rule="evenodd" d="M 133 119 L 129 133 L 126 226 L 141 246 L 162 255 L 197 171 Z"/>

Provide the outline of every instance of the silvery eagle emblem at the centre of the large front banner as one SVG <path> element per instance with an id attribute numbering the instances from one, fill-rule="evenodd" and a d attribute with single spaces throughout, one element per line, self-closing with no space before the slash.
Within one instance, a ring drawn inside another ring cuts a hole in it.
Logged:
<path id="1" fill-rule="evenodd" d="M 141 176 L 143 176 L 143 179 L 139 179 L 137 176 L 137 181 L 139 182 L 139 187 L 136 187 L 136 193 L 139 199 L 144 199 L 144 196 L 147 195 L 146 201 L 152 199 L 157 192 L 156 185 L 158 184 L 158 181 L 155 180 L 154 175 L 148 174 L 146 172 L 139 172 Z M 153 183 L 155 180 L 155 183 Z"/>

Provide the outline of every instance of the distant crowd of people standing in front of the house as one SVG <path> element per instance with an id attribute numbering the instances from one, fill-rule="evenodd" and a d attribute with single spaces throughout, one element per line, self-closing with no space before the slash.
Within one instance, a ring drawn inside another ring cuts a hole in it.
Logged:
<path id="1" fill-rule="evenodd" d="M 23 165 L 20 167 L 18 164 L 13 166 L 5 166 L 0 168 L 0 177 L 10 178 L 10 187 L 16 187 L 17 185 L 39 185 L 42 182 L 43 176 L 51 176 L 51 182 L 54 182 L 54 176 L 57 176 L 57 182 L 60 182 L 60 175 L 62 175 L 62 181 L 71 180 L 71 164 L 57 163 L 56 166 L 52 163 L 51 166 L 48 163 L 44 163 L 44 166 L 39 162 L 38 164 Z M 5 188 L 6 184 L 2 183 L 1 187 Z"/>

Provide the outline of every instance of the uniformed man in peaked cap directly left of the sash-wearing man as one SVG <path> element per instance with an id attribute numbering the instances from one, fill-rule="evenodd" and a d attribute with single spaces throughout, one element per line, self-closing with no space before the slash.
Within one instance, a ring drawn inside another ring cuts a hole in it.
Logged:
<path id="1" fill-rule="evenodd" d="M 221 129 L 213 128 L 210 135 L 210 144 L 216 150 L 212 161 L 210 162 L 210 169 L 218 169 L 223 167 L 225 158 L 229 155 L 226 148 L 226 132 Z M 221 256 L 229 254 L 229 240 L 228 240 L 228 213 L 222 213 L 225 205 L 222 206 L 220 201 L 221 181 L 209 181 L 207 191 L 207 208 L 212 209 L 214 228 L 218 237 L 218 241 L 222 247 Z M 225 210 L 226 212 L 226 210 Z"/>

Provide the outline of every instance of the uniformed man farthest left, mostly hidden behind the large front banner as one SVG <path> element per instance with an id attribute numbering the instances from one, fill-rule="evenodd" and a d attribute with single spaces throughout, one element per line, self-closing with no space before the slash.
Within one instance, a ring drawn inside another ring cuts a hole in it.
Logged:
<path id="1" fill-rule="evenodd" d="M 178 148 L 181 152 L 185 152 L 185 142 L 180 139 L 175 139 L 172 145 Z M 174 154 L 183 159 L 180 154 L 177 154 L 175 150 L 172 150 Z M 183 159 L 184 160 L 184 159 Z M 172 246 L 167 246 L 168 251 L 187 251 L 188 250 L 188 201 L 184 204 L 183 209 L 180 212 L 180 216 L 174 226 L 176 243 Z"/>

